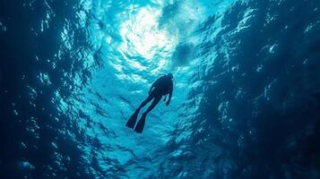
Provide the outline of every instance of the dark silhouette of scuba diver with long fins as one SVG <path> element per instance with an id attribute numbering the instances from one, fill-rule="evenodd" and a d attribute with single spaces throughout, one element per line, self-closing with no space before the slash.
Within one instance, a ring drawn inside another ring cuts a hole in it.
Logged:
<path id="1" fill-rule="evenodd" d="M 165 96 L 163 101 L 166 101 L 167 95 L 169 95 L 169 99 L 166 102 L 166 106 L 169 106 L 172 91 L 173 91 L 173 76 L 171 73 L 162 75 L 157 81 L 154 81 L 151 85 L 149 90 L 149 96 L 146 98 L 143 103 L 134 111 L 134 114 L 130 116 L 129 120 L 126 122 L 126 126 L 129 128 L 134 129 L 135 132 L 142 133 L 143 127 L 145 124 L 145 117 L 146 115 L 151 112 L 151 110 L 158 105 L 162 96 Z M 148 104 L 153 99 L 151 106 L 143 113 L 141 119 L 139 120 L 138 124 L 136 124 L 135 128 L 134 125 L 136 123 L 136 119 L 140 110 Z"/>

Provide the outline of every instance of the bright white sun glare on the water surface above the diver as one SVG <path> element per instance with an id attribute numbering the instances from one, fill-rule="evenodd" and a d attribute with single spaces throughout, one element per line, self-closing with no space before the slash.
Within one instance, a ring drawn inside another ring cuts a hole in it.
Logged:
<path id="1" fill-rule="evenodd" d="M 165 30 L 158 29 L 160 13 L 159 9 L 144 7 L 134 17 L 122 23 L 120 34 L 124 42 L 120 49 L 125 54 L 142 56 L 146 62 L 152 63 L 157 53 L 172 48 L 174 39 L 169 38 Z M 133 66 L 143 70 L 139 65 Z"/>

